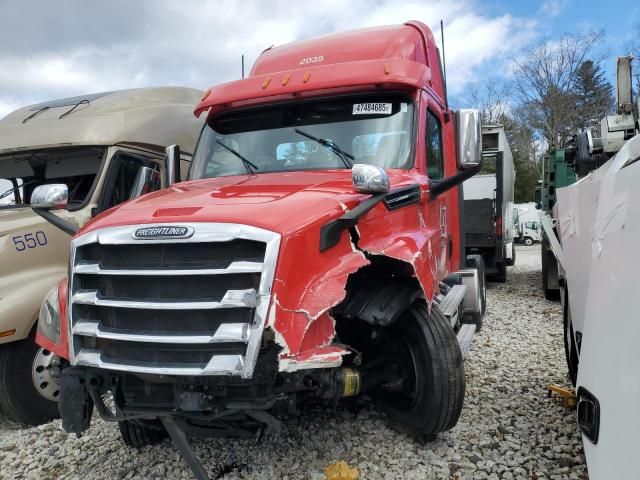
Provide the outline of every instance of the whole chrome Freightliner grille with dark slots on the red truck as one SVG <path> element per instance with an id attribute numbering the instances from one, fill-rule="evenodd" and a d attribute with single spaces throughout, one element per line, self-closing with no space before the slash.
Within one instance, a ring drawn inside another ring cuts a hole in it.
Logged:
<path id="1" fill-rule="evenodd" d="M 183 239 L 136 239 L 135 225 L 73 240 L 72 364 L 252 377 L 280 236 L 236 224 L 189 227 L 194 234 Z"/>

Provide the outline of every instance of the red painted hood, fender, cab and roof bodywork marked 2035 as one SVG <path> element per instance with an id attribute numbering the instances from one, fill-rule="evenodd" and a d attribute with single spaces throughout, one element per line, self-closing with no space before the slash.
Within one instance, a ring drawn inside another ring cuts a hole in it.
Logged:
<path id="1" fill-rule="evenodd" d="M 370 263 L 364 253 L 405 262 L 429 300 L 438 282 L 459 268 L 457 189 L 431 199 L 426 172 L 427 109 L 442 123 L 445 176 L 457 171 L 454 127 L 447 121 L 452 115 L 445 109 L 440 71 L 433 35 L 425 25 L 369 28 L 269 49 L 249 78 L 212 87 L 195 109 L 196 115 L 209 111 L 211 117 L 292 97 L 379 89 L 408 92 L 419 118 L 414 168 L 388 173 L 392 189 L 418 184 L 421 200 L 391 212 L 379 203 L 358 223 L 357 249 L 343 232 L 336 246 L 319 250 L 320 228 L 369 197 L 354 191 L 351 172 L 344 169 L 183 182 L 103 213 L 78 235 L 156 223 L 158 217 L 166 223 L 240 223 L 280 233 L 267 327 L 275 331 L 287 365 L 335 364 L 348 350 L 333 343 L 330 310 L 344 299 L 349 275 Z"/>

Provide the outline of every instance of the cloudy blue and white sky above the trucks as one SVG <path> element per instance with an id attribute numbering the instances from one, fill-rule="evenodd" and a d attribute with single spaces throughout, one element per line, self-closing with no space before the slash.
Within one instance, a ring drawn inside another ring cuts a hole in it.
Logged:
<path id="1" fill-rule="evenodd" d="M 615 5 L 615 7 L 614 7 Z M 0 0 L 0 118 L 32 103 L 123 88 L 205 89 L 240 78 L 271 45 L 351 28 L 445 24 L 453 97 L 504 81 L 523 47 L 564 32 L 604 29 L 615 57 L 640 31 L 632 0 Z M 637 61 L 640 61 L 638 59 Z"/>

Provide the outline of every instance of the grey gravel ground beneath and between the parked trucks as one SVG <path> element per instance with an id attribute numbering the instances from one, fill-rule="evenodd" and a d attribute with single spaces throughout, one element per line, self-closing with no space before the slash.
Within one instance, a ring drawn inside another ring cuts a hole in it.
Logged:
<path id="1" fill-rule="evenodd" d="M 212 478 L 320 480 L 345 460 L 361 479 L 586 479 L 572 411 L 547 398 L 566 385 L 558 304 L 540 291 L 539 247 L 518 247 L 506 284 L 490 284 L 485 326 L 466 360 L 467 395 L 450 432 L 418 445 L 368 405 L 309 408 L 260 443 L 194 441 Z M 54 421 L 20 428 L 0 417 L 0 478 L 191 478 L 165 441 L 130 450 L 117 426 L 94 418 L 68 436 Z"/>

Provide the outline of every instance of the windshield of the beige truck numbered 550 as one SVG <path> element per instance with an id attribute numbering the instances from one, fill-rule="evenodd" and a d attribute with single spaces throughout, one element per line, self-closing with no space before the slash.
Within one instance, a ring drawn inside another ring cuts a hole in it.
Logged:
<path id="1" fill-rule="evenodd" d="M 89 196 L 103 157 L 99 147 L 0 156 L 0 208 L 29 206 L 33 190 L 49 183 L 66 184 L 69 209 L 79 207 Z"/>

